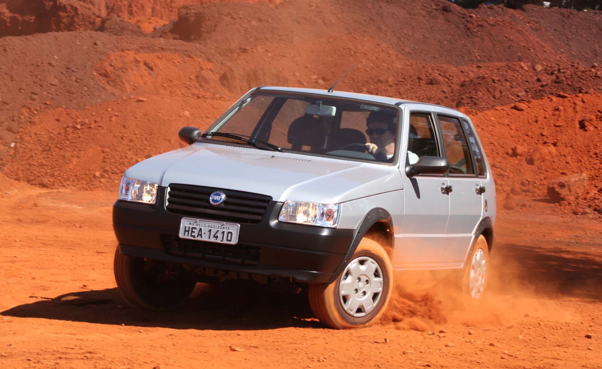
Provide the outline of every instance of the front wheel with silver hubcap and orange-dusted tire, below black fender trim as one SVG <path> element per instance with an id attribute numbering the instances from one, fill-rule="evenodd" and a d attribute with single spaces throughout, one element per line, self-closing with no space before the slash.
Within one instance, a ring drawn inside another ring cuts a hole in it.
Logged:
<path id="1" fill-rule="evenodd" d="M 354 277 L 356 275 L 359 277 Z M 368 276 L 372 280 L 365 284 Z M 347 288 L 341 289 L 341 283 Z M 389 256 L 377 242 L 364 238 L 334 282 L 309 285 L 309 304 L 315 317 L 326 326 L 335 329 L 368 327 L 385 312 L 392 289 L 393 268 Z M 353 311 L 358 301 L 359 305 Z"/>

